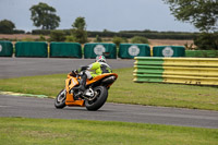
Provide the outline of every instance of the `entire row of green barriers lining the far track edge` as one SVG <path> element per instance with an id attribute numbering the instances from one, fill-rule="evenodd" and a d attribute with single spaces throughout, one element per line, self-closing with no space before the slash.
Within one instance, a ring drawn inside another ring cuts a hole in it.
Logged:
<path id="1" fill-rule="evenodd" d="M 83 58 L 82 45 L 77 43 L 51 43 L 46 41 L 17 41 L 15 43 L 15 57 L 47 58 Z M 50 51 L 49 51 L 50 50 Z M 133 59 L 134 57 L 187 57 L 187 58 L 217 58 L 217 50 L 185 50 L 183 46 L 155 46 L 150 50 L 146 44 L 120 44 L 117 56 L 114 44 L 85 44 L 84 58 L 94 59 L 104 55 L 108 59 Z M 12 57 L 13 44 L 0 41 L 0 57 Z"/>

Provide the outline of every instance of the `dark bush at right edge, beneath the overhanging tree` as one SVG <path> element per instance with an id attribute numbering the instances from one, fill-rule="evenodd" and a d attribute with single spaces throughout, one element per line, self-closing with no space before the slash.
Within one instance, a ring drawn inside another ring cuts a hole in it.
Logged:
<path id="1" fill-rule="evenodd" d="M 197 49 L 218 50 L 218 33 L 202 33 L 194 39 Z"/>

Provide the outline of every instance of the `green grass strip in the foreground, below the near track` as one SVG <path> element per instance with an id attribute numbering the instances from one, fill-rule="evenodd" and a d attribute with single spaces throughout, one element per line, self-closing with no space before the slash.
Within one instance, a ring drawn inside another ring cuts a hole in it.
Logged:
<path id="1" fill-rule="evenodd" d="M 2 145 L 217 145 L 217 129 L 60 119 L 0 118 Z"/>

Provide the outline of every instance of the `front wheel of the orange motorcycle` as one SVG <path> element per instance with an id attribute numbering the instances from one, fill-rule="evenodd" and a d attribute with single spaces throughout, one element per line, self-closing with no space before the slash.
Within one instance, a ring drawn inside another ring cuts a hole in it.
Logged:
<path id="1" fill-rule="evenodd" d="M 65 107 L 65 89 L 62 89 L 55 99 L 55 107 L 62 109 Z"/>

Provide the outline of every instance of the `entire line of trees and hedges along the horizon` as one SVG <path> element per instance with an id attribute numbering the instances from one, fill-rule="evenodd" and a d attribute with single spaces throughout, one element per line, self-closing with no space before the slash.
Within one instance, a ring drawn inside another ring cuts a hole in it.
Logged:
<path id="1" fill-rule="evenodd" d="M 56 14 L 56 9 L 47 3 L 39 2 L 33 5 L 29 11 L 33 24 L 39 29 L 32 34 L 50 35 L 51 37 L 69 41 L 84 44 L 87 37 L 123 37 L 132 38 L 134 36 L 146 37 L 150 39 L 194 39 L 194 44 L 199 49 L 218 49 L 218 2 L 217 0 L 162 0 L 169 4 L 171 14 L 182 22 L 193 24 L 199 29 L 199 33 L 183 32 L 155 32 L 155 31 L 121 31 L 110 32 L 87 32 L 85 17 L 77 17 L 72 24 L 71 29 L 53 31 L 59 26 L 60 16 Z M 0 21 L 0 33 L 25 33 L 24 31 L 14 29 L 15 25 L 9 20 Z M 57 36 L 56 36 L 57 35 Z"/>

